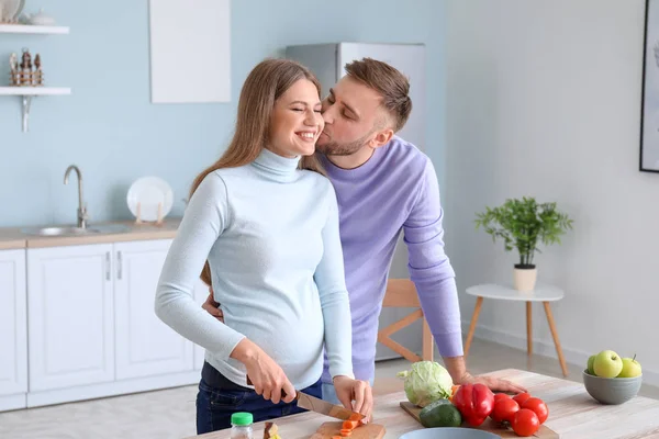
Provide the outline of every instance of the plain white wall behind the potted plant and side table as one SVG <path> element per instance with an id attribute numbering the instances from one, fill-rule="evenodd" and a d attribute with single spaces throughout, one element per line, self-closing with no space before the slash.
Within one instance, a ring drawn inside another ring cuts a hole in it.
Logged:
<path id="1" fill-rule="evenodd" d="M 511 280 L 516 260 L 474 229 L 474 213 L 557 201 L 574 230 L 536 261 L 540 281 L 567 291 L 554 307 L 567 360 L 636 353 L 659 384 L 659 175 L 637 170 L 644 3 L 448 0 L 444 192 L 465 324 L 463 290 Z M 556 356 L 535 312 L 536 352 Z M 485 301 L 477 334 L 525 348 L 524 305 Z"/>

